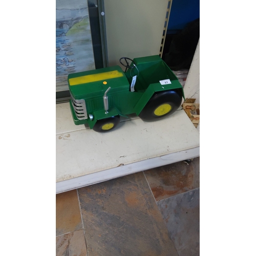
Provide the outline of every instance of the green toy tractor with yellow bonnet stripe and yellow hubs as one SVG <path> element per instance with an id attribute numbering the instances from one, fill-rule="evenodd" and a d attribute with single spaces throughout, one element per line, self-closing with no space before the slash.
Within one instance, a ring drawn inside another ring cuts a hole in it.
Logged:
<path id="1" fill-rule="evenodd" d="M 74 123 L 96 132 L 114 129 L 120 116 L 155 121 L 173 114 L 184 98 L 183 88 L 158 55 L 120 58 L 119 66 L 69 74 Z M 185 99 L 185 98 L 184 98 Z"/>

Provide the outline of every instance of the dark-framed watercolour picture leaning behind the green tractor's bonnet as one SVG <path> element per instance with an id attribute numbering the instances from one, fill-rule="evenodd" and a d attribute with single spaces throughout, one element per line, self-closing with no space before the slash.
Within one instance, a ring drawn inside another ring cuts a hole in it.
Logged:
<path id="1" fill-rule="evenodd" d="M 105 67 L 103 0 L 56 0 L 56 103 L 70 99 L 70 73 Z"/>

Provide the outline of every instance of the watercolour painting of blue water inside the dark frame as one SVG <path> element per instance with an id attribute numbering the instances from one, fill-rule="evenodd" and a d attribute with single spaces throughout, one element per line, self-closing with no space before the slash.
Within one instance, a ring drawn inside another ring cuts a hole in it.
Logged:
<path id="1" fill-rule="evenodd" d="M 68 74 L 95 69 L 86 0 L 56 0 L 56 92 L 68 90 Z"/>

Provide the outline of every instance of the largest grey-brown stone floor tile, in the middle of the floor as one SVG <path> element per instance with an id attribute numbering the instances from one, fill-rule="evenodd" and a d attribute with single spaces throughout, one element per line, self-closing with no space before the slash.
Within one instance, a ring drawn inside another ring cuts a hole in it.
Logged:
<path id="1" fill-rule="evenodd" d="M 90 256 L 178 256 L 143 173 L 78 189 Z"/>

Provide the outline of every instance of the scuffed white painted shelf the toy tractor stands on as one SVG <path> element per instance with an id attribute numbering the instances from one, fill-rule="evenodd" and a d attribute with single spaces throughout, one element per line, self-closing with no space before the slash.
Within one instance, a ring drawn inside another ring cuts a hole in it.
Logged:
<path id="1" fill-rule="evenodd" d="M 56 104 L 56 193 L 198 156 L 199 133 L 183 110 L 97 133 L 73 123 L 69 103 Z"/>

